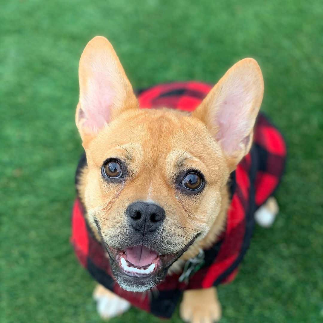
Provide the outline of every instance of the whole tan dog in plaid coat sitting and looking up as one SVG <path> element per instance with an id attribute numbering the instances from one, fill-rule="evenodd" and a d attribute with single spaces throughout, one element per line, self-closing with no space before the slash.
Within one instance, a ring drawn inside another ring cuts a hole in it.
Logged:
<path id="1" fill-rule="evenodd" d="M 99 282 L 99 314 L 133 304 L 170 317 L 182 296 L 184 321 L 219 320 L 216 286 L 236 274 L 254 219 L 270 226 L 278 213 L 272 193 L 286 147 L 258 116 L 259 65 L 245 58 L 213 88 L 180 82 L 137 98 L 112 45 L 97 36 L 81 55 L 79 87 L 85 155 L 72 243 Z M 158 109 L 140 109 L 154 102 Z"/>

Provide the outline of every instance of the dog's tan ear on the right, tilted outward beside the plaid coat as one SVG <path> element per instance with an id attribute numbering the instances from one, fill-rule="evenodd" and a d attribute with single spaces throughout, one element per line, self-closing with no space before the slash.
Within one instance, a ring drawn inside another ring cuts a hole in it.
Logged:
<path id="1" fill-rule="evenodd" d="M 254 59 L 245 58 L 225 73 L 192 113 L 220 143 L 230 171 L 251 147 L 263 94 L 260 67 Z"/>

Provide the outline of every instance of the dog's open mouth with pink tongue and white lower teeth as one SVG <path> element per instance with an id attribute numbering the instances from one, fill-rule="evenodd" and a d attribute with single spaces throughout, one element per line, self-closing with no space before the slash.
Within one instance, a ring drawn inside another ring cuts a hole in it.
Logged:
<path id="1" fill-rule="evenodd" d="M 162 255 L 144 245 L 128 247 L 124 250 L 109 248 L 114 262 L 126 276 L 149 278 L 169 267 L 177 254 Z"/>

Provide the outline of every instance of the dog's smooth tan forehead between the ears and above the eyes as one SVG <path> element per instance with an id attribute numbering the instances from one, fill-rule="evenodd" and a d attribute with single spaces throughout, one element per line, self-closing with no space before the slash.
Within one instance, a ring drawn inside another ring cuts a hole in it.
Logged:
<path id="1" fill-rule="evenodd" d="M 166 109 L 142 109 L 115 120 L 93 140 L 91 151 L 98 163 L 122 156 L 147 166 L 180 167 L 186 161 L 202 162 L 206 154 L 222 157 L 199 120 Z"/>

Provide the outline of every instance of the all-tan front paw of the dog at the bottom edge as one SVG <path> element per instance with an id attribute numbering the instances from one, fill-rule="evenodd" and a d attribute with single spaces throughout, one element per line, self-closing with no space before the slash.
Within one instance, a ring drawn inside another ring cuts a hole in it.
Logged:
<path id="1" fill-rule="evenodd" d="M 221 318 L 221 304 L 215 287 L 184 292 L 180 315 L 185 322 L 211 323 Z"/>

